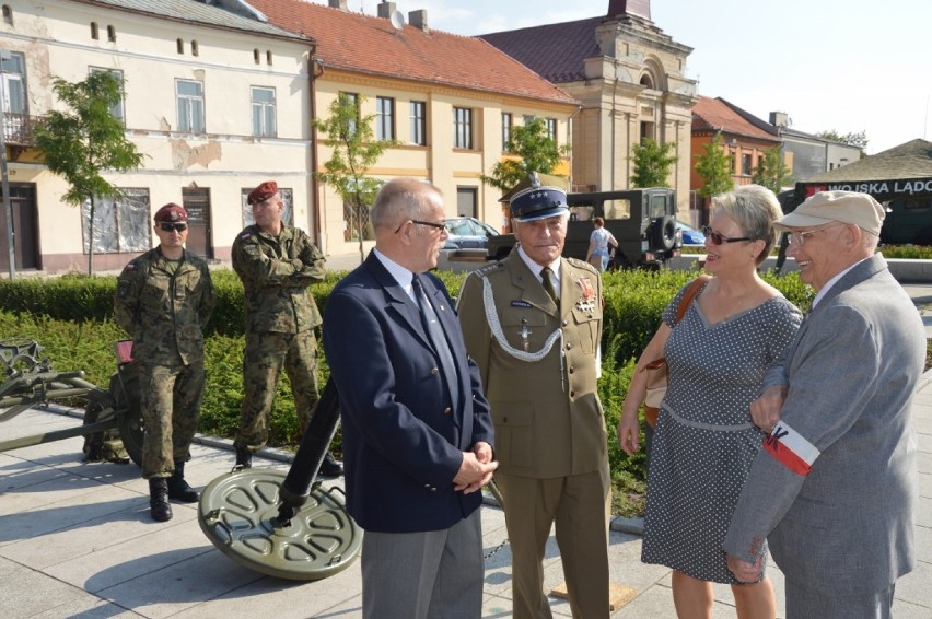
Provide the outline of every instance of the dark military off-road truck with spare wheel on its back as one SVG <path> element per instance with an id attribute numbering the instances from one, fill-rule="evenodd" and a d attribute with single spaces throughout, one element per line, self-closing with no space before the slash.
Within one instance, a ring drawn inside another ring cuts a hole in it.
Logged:
<path id="1" fill-rule="evenodd" d="M 585 259 L 593 231 L 602 217 L 618 241 L 614 265 L 621 268 L 660 268 L 679 255 L 683 236 L 676 229 L 676 192 L 666 187 L 568 194 L 570 221 L 563 256 Z M 500 260 L 514 246 L 513 234 L 489 238 L 489 259 Z"/>

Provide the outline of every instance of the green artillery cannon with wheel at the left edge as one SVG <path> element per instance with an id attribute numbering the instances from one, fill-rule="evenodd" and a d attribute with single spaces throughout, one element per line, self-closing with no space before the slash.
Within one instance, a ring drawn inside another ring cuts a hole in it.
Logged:
<path id="1" fill-rule="evenodd" d="M 73 406 L 75 401 L 84 405 L 83 424 L 0 441 L 0 452 L 117 429 L 130 459 L 139 465 L 143 427 L 131 348 L 129 340 L 115 344 L 117 370 L 110 376 L 109 388 L 103 389 L 86 381 L 83 371 L 55 371 L 43 348 L 33 339 L 0 340 L 0 371 L 4 373 L 0 384 L 0 422 L 37 405 L 67 402 Z M 94 459 L 93 455 L 89 456 Z"/>

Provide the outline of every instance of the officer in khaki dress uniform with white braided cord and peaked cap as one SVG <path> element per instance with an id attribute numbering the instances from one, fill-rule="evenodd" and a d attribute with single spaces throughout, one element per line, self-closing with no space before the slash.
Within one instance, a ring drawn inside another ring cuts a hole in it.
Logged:
<path id="1" fill-rule="evenodd" d="M 533 178 L 510 202 L 519 244 L 466 278 L 459 320 L 498 437 L 514 617 L 550 617 L 543 559 L 556 523 L 573 617 L 599 619 L 608 617 L 610 505 L 596 393 L 602 282 L 591 265 L 560 256 L 566 191 Z"/>

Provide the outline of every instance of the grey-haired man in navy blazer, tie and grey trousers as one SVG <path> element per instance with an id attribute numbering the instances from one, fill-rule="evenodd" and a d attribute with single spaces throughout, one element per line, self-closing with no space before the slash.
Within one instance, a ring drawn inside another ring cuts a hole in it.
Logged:
<path id="1" fill-rule="evenodd" d="M 365 530 L 363 616 L 475 619 L 479 490 L 498 463 L 478 369 L 446 289 L 426 273 L 447 236 L 443 201 L 430 184 L 396 178 L 370 219 L 375 248 L 327 299 L 323 338 L 340 396 L 347 511 Z"/>

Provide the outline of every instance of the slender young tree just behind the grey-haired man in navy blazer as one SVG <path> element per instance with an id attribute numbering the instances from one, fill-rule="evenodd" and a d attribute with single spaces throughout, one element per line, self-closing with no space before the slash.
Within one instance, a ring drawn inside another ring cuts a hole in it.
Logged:
<path id="1" fill-rule="evenodd" d="M 359 261 L 365 259 L 362 241 L 365 238 L 363 212 L 375 200 L 382 183 L 369 178 L 365 174 L 378 161 L 394 140 L 376 140 L 372 130 L 374 114 L 361 116 L 360 108 L 365 97 L 340 93 L 330 104 L 329 116 L 316 118 L 314 128 L 325 138 L 321 142 L 334 149 L 329 161 L 324 163 L 324 172 L 316 172 L 317 178 L 334 189 L 343 203 L 353 209 L 359 237 Z M 368 219 L 368 218 L 366 218 Z"/>

